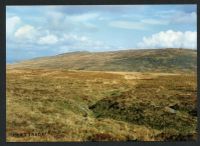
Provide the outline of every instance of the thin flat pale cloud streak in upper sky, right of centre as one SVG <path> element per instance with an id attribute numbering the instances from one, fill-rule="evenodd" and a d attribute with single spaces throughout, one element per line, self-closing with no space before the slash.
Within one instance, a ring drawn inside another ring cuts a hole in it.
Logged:
<path id="1" fill-rule="evenodd" d="M 143 24 L 134 21 L 112 21 L 109 23 L 112 27 L 123 28 L 123 29 L 136 29 L 144 30 Z"/>

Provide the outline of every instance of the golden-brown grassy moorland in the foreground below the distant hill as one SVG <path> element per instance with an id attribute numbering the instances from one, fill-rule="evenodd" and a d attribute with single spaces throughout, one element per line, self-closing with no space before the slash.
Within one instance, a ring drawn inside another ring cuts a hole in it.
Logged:
<path id="1" fill-rule="evenodd" d="M 197 75 L 191 59 L 179 63 L 187 70 L 179 67 L 176 73 L 164 72 L 165 66 L 160 72 L 128 72 L 67 70 L 52 68 L 53 63 L 51 67 L 42 67 L 38 60 L 32 63 L 7 68 L 7 141 L 197 138 Z"/>

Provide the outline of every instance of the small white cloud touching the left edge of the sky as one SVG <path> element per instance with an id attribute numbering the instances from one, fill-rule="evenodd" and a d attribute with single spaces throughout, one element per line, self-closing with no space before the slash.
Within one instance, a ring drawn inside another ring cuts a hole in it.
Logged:
<path id="1" fill-rule="evenodd" d="M 21 23 L 21 19 L 18 16 L 13 16 L 13 17 L 7 18 L 6 19 L 6 34 L 7 34 L 7 36 L 11 35 L 14 32 L 14 30 L 16 29 L 16 26 L 20 23 Z"/>

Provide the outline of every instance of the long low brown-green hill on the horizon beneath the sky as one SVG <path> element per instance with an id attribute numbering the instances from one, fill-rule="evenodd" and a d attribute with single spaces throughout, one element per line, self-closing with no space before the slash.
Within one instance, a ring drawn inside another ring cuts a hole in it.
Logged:
<path id="1" fill-rule="evenodd" d="M 197 50 L 146 49 L 72 52 L 7 65 L 8 68 L 92 71 L 195 72 Z"/>

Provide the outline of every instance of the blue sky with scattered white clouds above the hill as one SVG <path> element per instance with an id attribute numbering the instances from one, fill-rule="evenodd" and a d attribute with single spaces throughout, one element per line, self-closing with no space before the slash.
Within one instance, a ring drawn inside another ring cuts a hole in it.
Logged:
<path id="1" fill-rule="evenodd" d="M 197 49 L 196 5 L 7 6 L 7 63 L 75 51 Z"/>

